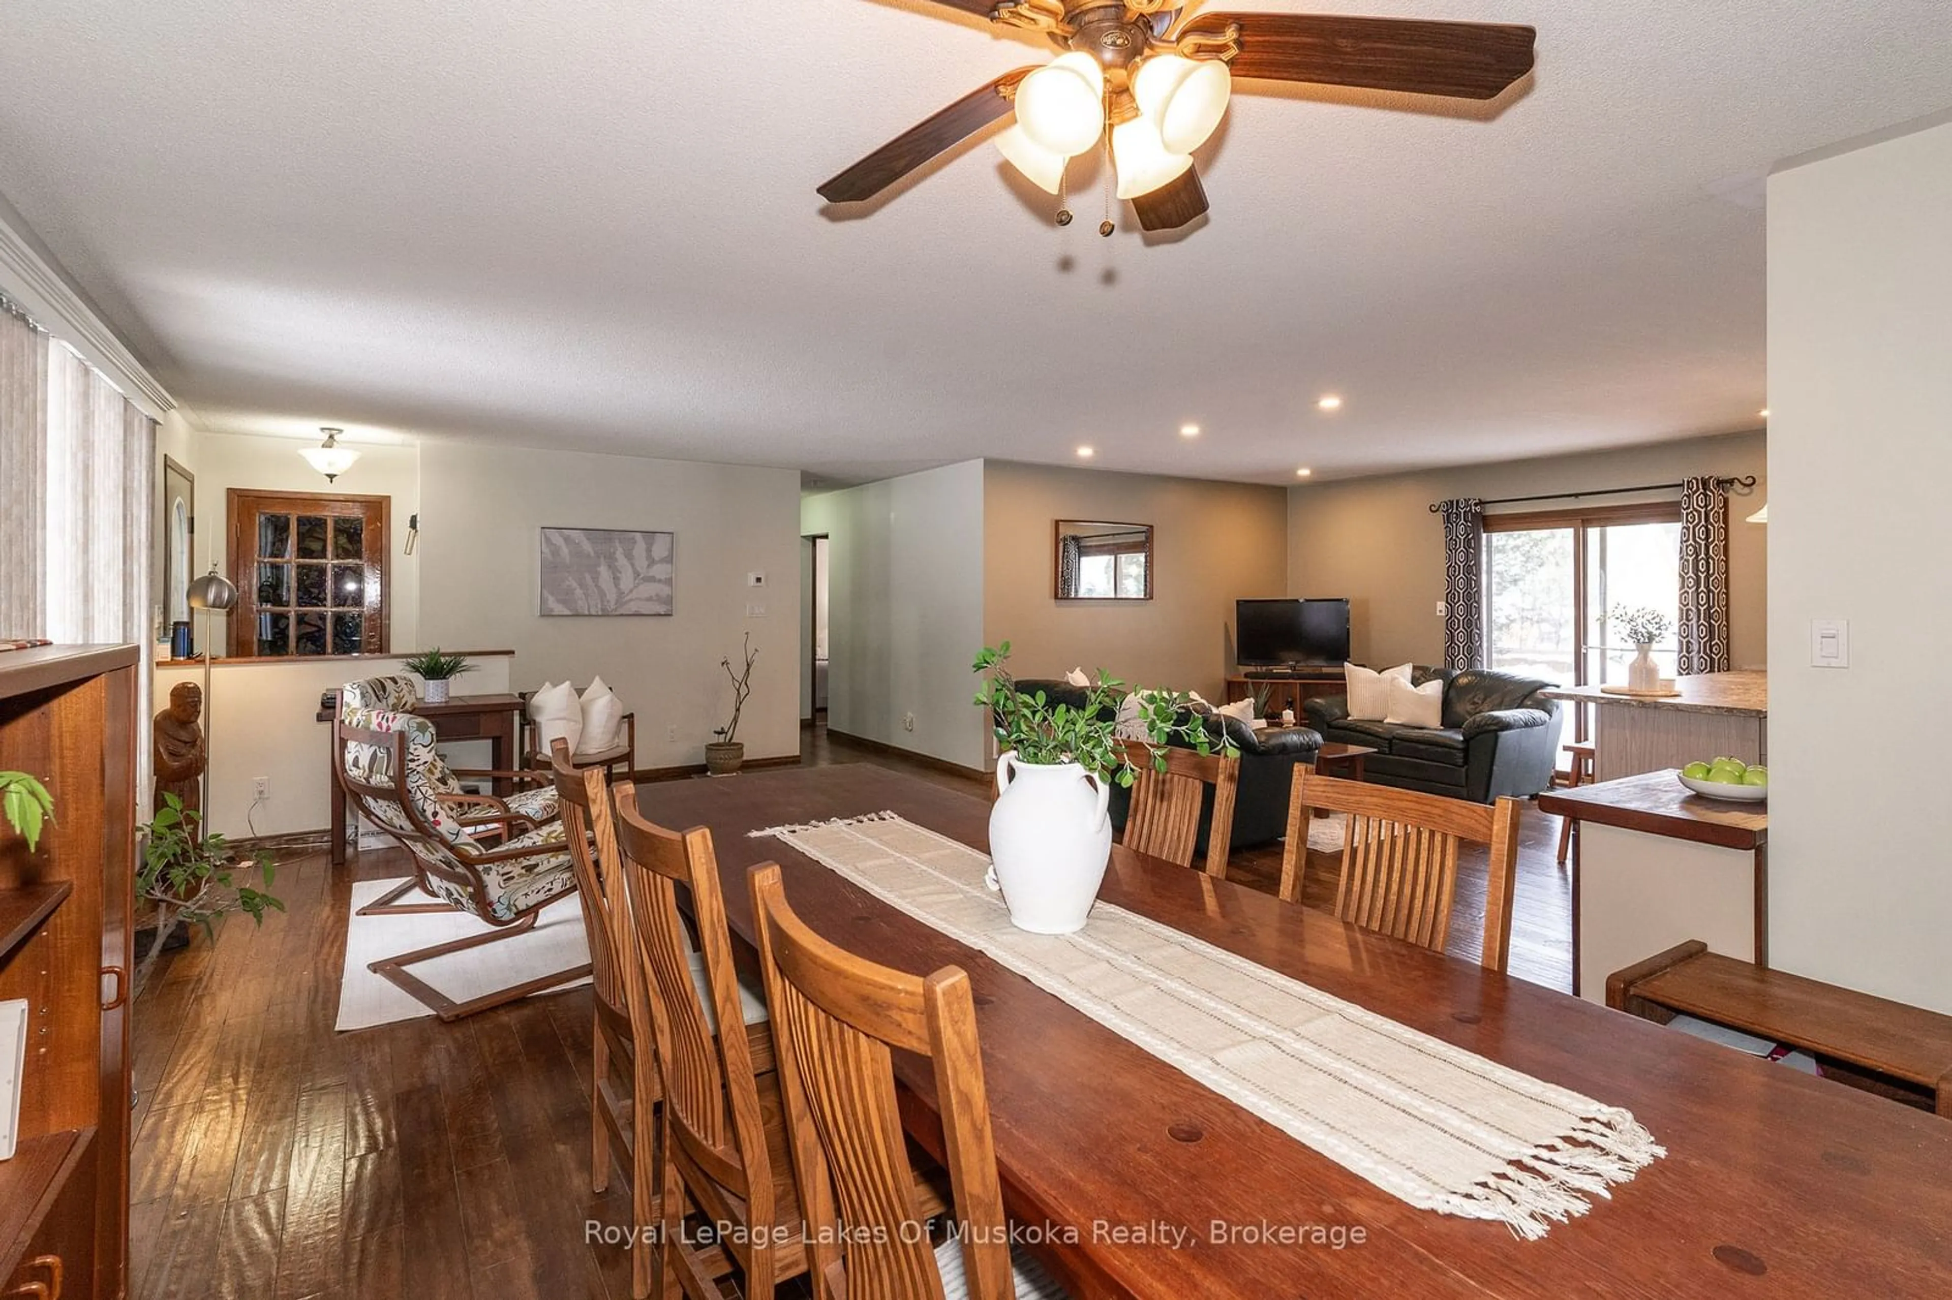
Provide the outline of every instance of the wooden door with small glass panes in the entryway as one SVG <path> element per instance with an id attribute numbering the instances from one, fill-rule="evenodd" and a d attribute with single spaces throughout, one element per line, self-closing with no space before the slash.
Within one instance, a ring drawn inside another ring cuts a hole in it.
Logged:
<path id="1" fill-rule="evenodd" d="M 392 498 L 230 488 L 230 654 L 386 652 Z"/>

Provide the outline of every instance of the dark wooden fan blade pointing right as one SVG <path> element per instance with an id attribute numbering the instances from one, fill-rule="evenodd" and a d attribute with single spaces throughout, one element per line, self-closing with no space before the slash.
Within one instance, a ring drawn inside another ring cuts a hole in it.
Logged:
<path id="1" fill-rule="evenodd" d="M 1491 100 L 1532 70 L 1536 31 L 1339 14 L 1200 14 L 1177 37 L 1240 23 L 1234 76 Z"/>

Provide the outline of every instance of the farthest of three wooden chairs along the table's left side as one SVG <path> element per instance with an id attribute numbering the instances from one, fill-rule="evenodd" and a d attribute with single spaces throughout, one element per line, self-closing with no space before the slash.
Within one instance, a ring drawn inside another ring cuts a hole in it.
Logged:
<path id="1" fill-rule="evenodd" d="M 658 1193 L 664 1173 L 658 1161 L 660 1077 L 654 1060 L 638 1058 L 656 1050 L 654 1038 L 638 1038 L 630 1007 L 640 1005 L 642 970 L 630 955 L 630 894 L 617 853 L 617 816 L 611 808 L 603 767 L 578 767 L 566 742 L 550 752 L 550 773 L 562 828 L 576 869 L 578 898 L 584 904 L 584 933 L 590 939 L 590 974 L 595 992 L 591 1013 L 590 1068 L 590 1191 L 609 1189 L 611 1158 L 630 1183 L 630 1294 L 646 1300 L 658 1280 L 652 1230 L 662 1222 Z M 642 1046 L 640 1046 L 642 1044 Z"/>

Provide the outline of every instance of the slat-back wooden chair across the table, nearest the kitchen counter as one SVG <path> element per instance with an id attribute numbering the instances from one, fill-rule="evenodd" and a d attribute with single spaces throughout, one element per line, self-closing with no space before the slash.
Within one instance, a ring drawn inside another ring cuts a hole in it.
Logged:
<path id="1" fill-rule="evenodd" d="M 1294 769 L 1288 837 L 1281 853 L 1281 896 L 1288 902 L 1302 898 L 1312 808 L 1343 816 L 1335 915 L 1437 953 L 1450 937 L 1458 845 L 1487 845 L 1491 871 L 1485 880 L 1482 962 L 1489 970 L 1505 970 L 1511 958 L 1519 800 L 1474 804 L 1366 781 L 1337 781 L 1302 763 Z"/>

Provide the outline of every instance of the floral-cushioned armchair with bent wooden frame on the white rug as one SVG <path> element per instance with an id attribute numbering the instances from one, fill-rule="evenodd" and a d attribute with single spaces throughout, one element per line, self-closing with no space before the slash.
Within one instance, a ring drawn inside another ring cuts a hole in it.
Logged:
<path id="1" fill-rule="evenodd" d="M 498 798 L 472 794 L 459 781 L 461 775 L 480 775 L 533 785 L 549 781 L 549 775 L 447 767 L 435 750 L 433 724 L 404 709 L 412 703 L 414 685 L 406 677 L 347 683 L 340 693 L 332 744 L 340 785 L 353 806 L 398 839 L 414 861 L 410 880 L 359 914 L 465 912 L 494 929 L 402 953 L 369 968 L 443 1021 L 584 978 L 588 964 L 455 1003 L 408 970 L 535 929 L 541 910 L 576 888 L 552 783 Z M 431 902 L 400 902 L 416 890 Z"/>

